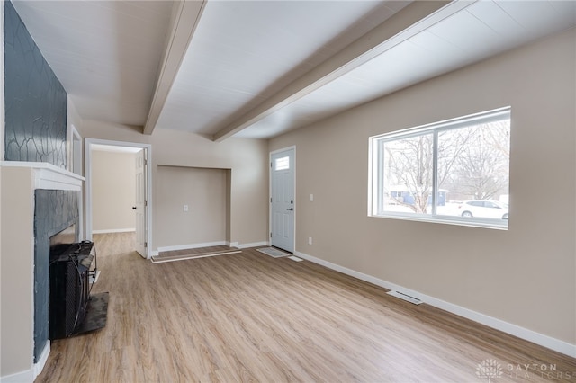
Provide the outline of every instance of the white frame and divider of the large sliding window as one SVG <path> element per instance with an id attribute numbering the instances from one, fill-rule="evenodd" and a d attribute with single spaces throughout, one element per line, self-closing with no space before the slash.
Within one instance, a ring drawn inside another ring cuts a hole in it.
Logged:
<path id="1" fill-rule="evenodd" d="M 379 162 L 381 161 L 379 146 L 384 142 L 394 141 L 399 138 L 417 137 L 426 133 L 432 133 L 437 136 L 437 133 L 448 129 L 459 129 L 473 124 L 488 122 L 491 120 L 502 120 L 502 118 L 510 118 L 511 108 L 509 106 L 494 109 L 491 111 L 482 111 L 464 117 L 458 117 L 450 120 L 438 121 L 426 125 L 410 129 L 402 129 L 392 133 L 384 133 L 369 138 L 369 167 L 368 167 L 368 217 L 373 218 L 389 218 L 401 219 L 419 222 L 441 223 L 447 225 L 457 225 L 464 227 L 483 227 L 498 230 L 508 230 L 509 221 L 500 222 L 497 219 L 491 218 L 462 218 L 458 216 L 437 215 L 437 192 L 432 193 L 432 213 L 431 214 L 418 214 L 418 213 L 403 213 L 394 211 L 377 211 L 379 206 L 379 199 L 381 198 L 380 188 L 383 181 L 380 180 L 377 174 L 379 169 Z M 433 190 L 437 191 L 437 150 L 434 150 L 434 177 L 433 177 Z"/>

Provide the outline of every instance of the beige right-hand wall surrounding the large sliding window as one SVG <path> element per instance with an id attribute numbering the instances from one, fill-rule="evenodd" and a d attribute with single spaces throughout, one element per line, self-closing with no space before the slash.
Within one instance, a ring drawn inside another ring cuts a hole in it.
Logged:
<path id="1" fill-rule="evenodd" d="M 576 354 L 574 41 L 568 31 L 271 140 L 296 146 L 297 251 Z M 508 231 L 367 217 L 370 136 L 507 105 Z"/>

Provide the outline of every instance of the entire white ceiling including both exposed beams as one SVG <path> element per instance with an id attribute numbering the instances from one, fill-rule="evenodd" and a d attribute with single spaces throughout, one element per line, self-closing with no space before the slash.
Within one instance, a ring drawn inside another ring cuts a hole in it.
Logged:
<path id="1" fill-rule="evenodd" d="M 574 1 L 410 3 L 14 7 L 85 120 L 214 139 L 271 138 L 576 24 Z"/>

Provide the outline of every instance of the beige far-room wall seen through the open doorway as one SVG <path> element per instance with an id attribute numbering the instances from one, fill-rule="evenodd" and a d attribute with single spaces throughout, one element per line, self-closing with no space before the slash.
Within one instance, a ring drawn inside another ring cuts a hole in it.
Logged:
<path id="1" fill-rule="evenodd" d="M 133 153 L 92 152 L 92 230 L 136 230 L 136 159 Z"/>

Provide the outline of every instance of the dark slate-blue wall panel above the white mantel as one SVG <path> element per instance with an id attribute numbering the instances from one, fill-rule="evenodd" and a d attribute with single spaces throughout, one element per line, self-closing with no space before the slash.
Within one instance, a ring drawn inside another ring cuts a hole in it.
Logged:
<path id="1" fill-rule="evenodd" d="M 5 160 L 67 165 L 67 93 L 11 2 L 4 4 Z"/>

